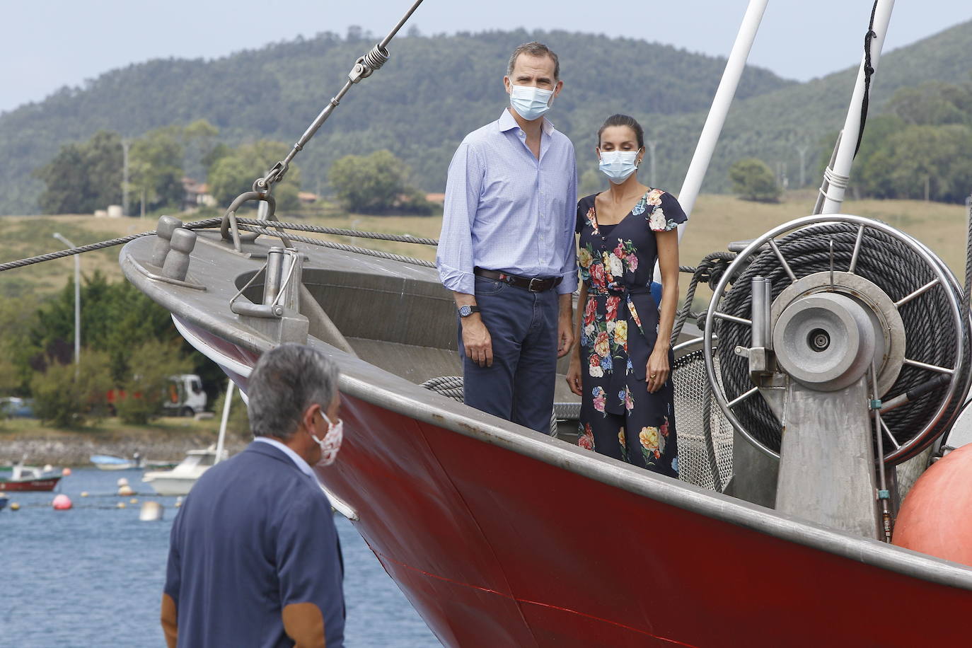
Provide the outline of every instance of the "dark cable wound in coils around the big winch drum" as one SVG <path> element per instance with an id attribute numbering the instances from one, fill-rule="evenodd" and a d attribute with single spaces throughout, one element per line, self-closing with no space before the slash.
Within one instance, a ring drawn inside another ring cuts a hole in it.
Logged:
<path id="1" fill-rule="evenodd" d="M 831 241 L 834 244 L 835 266 L 840 269 L 849 267 L 856 237 L 856 226 L 838 223 L 806 227 L 782 237 L 778 243 L 782 255 L 799 278 L 829 270 Z M 934 279 L 931 269 L 914 251 L 884 232 L 873 229 L 868 231 L 862 241 L 855 274 L 867 278 L 893 300 L 900 299 Z M 747 287 L 749 280 L 756 275 L 770 279 L 773 283 L 774 299 L 790 285 L 789 277 L 776 255 L 768 250 L 755 257 L 734 280 L 734 286 L 738 286 L 739 290 L 729 290 L 719 305 L 719 310 L 748 318 L 751 313 L 751 292 Z M 964 319 L 963 327 L 966 330 L 955 331 L 952 328 L 951 311 L 943 290 L 928 290 L 904 305 L 900 314 L 904 329 L 908 331 L 906 358 L 937 366 L 955 366 L 955 335 L 968 336 L 969 332 Z M 736 356 L 733 351 L 737 345 L 751 346 L 751 329 L 742 324 L 718 320 L 715 332 L 719 339 L 718 357 L 722 381 L 726 396 L 732 400 L 752 387 L 745 358 Z M 966 367 L 968 353 L 966 347 L 966 358 L 963 359 Z M 901 368 L 894 385 L 882 398 L 890 399 L 911 391 L 927 383 L 928 379 L 928 371 L 906 364 Z M 882 418 L 896 440 L 903 443 L 931 419 L 939 403 L 935 394 L 927 393 L 908 407 L 892 410 Z M 780 424 L 761 398 L 746 400 L 736 412 L 740 422 L 754 437 L 767 447 L 780 450 Z M 943 421 L 949 420 L 947 412 Z"/>

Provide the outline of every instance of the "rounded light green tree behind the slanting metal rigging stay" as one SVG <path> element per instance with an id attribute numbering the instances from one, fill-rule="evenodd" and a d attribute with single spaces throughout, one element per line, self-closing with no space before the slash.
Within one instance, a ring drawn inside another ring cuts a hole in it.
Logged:
<path id="1" fill-rule="evenodd" d="M 253 188 L 257 178 L 287 156 L 290 149 L 281 142 L 260 140 L 226 151 L 215 160 L 206 182 L 209 192 L 217 202 L 228 207 L 236 196 Z M 284 180 L 273 186 L 272 195 L 277 209 L 294 209 L 297 206 L 297 190 L 300 188 L 300 169 L 291 165 Z"/>

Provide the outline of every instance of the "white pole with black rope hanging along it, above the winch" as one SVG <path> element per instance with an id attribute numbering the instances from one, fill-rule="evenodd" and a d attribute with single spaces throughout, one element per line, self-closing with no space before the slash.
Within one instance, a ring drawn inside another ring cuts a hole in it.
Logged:
<path id="1" fill-rule="evenodd" d="M 871 67 L 875 70 L 878 69 L 881 48 L 885 44 L 885 35 L 887 34 L 887 23 L 891 19 L 891 10 L 893 9 L 894 0 L 878 1 L 878 8 L 874 14 L 874 32 L 876 35 L 871 39 Z M 853 162 L 854 149 L 857 147 L 857 133 L 860 130 L 860 106 L 864 100 L 864 60 L 865 58 L 862 57 L 860 68 L 857 70 L 857 83 L 853 87 L 851 107 L 848 109 L 848 117 L 844 121 L 844 137 L 841 138 L 833 167 L 824 172 L 824 184 L 829 183 L 829 187 L 825 191 L 823 188 L 820 189 L 824 194 L 821 214 L 837 214 L 841 210 L 841 203 L 844 202 L 844 190 L 847 188 L 848 179 L 851 176 L 851 163 Z M 873 79 L 872 77 L 872 82 Z"/>

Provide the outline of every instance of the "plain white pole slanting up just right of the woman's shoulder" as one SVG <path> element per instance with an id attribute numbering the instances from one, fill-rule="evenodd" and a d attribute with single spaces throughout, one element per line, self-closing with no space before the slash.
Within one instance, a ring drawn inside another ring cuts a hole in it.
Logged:
<path id="1" fill-rule="evenodd" d="M 715 90 L 712 98 L 712 108 L 709 109 L 709 117 L 706 118 L 706 125 L 702 128 L 699 135 L 699 144 L 695 147 L 695 154 L 692 162 L 685 173 L 685 180 L 678 191 L 678 203 L 687 216 L 692 214 L 695 206 L 695 199 L 702 188 L 702 180 L 706 176 L 709 162 L 712 161 L 712 151 L 715 150 L 715 143 L 722 132 L 722 124 L 725 123 L 726 115 L 729 113 L 729 105 L 736 94 L 736 87 L 739 79 L 743 76 L 746 68 L 746 58 L 752 49 L 752 42 L 756 39 L 756 31 L 759 23 L 763 19 L 763 12 L 766 11 L 766 4 L 769 0 L 749 0 L 746 7 L 746 16 L 743 17 L 743 24 L 740 25 L 739 33 L 736 35 L 736 42 L 729 52 L 729 59 L 726 61 L 725 71 L 722 79 Z M 678 225 L 678 240 L 681 240 L 685 232 L 685 225 Z M 656 273 L 657 274 L 657 273 Z"/>

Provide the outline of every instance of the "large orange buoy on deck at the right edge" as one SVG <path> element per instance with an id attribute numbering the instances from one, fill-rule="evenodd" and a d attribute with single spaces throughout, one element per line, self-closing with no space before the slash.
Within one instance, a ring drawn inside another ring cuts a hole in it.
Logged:
<path id="1" fill-rule="evenodd" d="M 925 470 L 905 497 L 893 543 L 972 566 L 972 443 Z"/>

